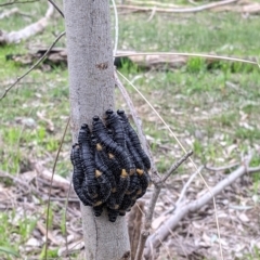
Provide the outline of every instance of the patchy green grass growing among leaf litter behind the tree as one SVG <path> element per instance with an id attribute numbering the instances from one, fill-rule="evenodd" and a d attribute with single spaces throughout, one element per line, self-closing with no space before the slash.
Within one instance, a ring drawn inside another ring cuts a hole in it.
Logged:
<path id="1" fill-rule="evenodd" d="M 61 2 L 60 2 L 61 4 Z M 16 30 L 44 14 L 44 4 L 35 2 L 20 4 L 29 17 L 15 15 L 3 20 L 2 29 Z M 32 12 L 30 12 L 34 10 Z M 236 13 L 203 12 L 188 15 L 156 14 L 147 22 L 150 14 L 119 15 L 119 49 L 136 51 L 178 51 L 217 53 L 240 57 L 259 57 L 259 21 L 255 16 L 242 18 Z M 196 29 L 194 29 L 196 28 Z M 0 49 L 1 90 L 8 87 L 28 67 L 23 67 L 5 55 L 27 53 L 29 47 L 49 46 L 53 35 L 64 30 L 62 20 L 56 20 L 43 34 L 26 42 Z M 64 39 L 58 43 L 65 46 Z M 260 141 L 259 125 L 259 68 L 240 63 L 218 62 L 212 66 L 204 58 L 191 57 L 180 69 L 142 70 L 134 64 L 122 64 L 119 69 L 144 93 L 158 109 L 186 150 L 194 151 L 199 164 L 225 165 L 239 160 L 240 154 Z M 69 115 L 68 74 L 62 67 L 43 73 L 36 69 L 18 83 L 1 101 L 0 118 L 0 169 L 20 174 L 31 169 L 31 161 L 44 161 L 53 166 L 66 120 Z M 181 148 L 144 101 L 126 83 L 133 102 L 144 121 L 145 133 L 151 138 L 151 147 L 160 172 L 164 172 L 182 154 Z M 116 92 L 117 107 L 125 107 L 119 92 Z M 56 173 L 70 173 L 70 134 L 65 138 Z M 234 147 L 234 148 L 232 148 Z M 252 166 L 259 165 L 259 158 Z M 187 169 L 182 167 L 181 172 Z M 3 180 L 1 181 L 3 182 Z M 253 176 L 255 193 L 259 176 Z M 11 184 L 6 181 L 4 184 Z M 52 205 L 50 224 L 55 214 Z M 65 234 L 64 211 L 58 211 L 61 231 Z M 15 259 L 20 246 L 30 236 L 36 219 L 23 216 L 17 224 L 10 222 L 17 212 L 0 213 L 0 256 Z M 10 235 L 10 230 L 13 235 Z M 44 250 L 41 251 L 43 257 Z M 50 249 L 50 257 L 56 257 L 56 249 Z M 256 256 L 259 249 L 256 249 Z M 248 259 L 252 259 L 248 257 Z"/>

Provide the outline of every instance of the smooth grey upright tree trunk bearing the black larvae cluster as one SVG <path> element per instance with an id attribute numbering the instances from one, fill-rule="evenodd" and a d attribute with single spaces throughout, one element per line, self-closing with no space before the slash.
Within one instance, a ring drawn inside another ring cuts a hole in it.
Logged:
<path id="1" fill-rule="evenodd" d="M 81 123 L 91 127 L 94 115 L 114 108 L 114 65 L 110 39 L 109 1 L 64 0 L 67 35 L 70 120 L 73 140 Z M 115 223 L 107 212 L 95 218 L 81 204 L 88 260 L 129 259 L 130 245 L 125 217 Z"/>

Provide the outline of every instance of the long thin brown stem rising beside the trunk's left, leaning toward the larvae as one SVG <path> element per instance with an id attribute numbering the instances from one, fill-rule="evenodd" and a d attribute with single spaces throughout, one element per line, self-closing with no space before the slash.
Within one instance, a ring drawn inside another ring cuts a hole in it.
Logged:
<path id="1" fill-rule="evenodd" d="M 58 150 L 57 150 L 57 153 L 56 153 L 56 157 L 55 157 L 55 160 L 54 160 L 54 165 L 53 165 L 53 168 L 52 168 L 52 178 L 51 178 L 51 183 L 50 183 L 50 188 L 49 188 L 49 199 L 48 199 L 48 204 L 47 204 L 47 223 L 46 223 L 46 229 L 47 229 L 47 239 L 46 239 L 46 250 L 44 250 L 44 253 L 46 253 L 46 260 L 48 258 L 47 256 L 47 252 L 48 252 L 48 230 L 49 230 L 49 211 L 50 211 L 50 204 L 51 204 L 51 190 L 52 190 L 52 181 L 53 181 L 53 177 L 54 177 L 54 173 L 55 173 L 55 169 L 56 169 L 56 164 L 57 164 L 57 159 L 58 159 L 58 156 L 60 156 L 60 153 L 62 151 L 62 145 L 63 145 L 63 142 L 64 142 L 64 139 L 65 139 L 65 135 L 66 135 L 66 132 L 67 132 L 67 128 L 68 128 L 68 125 L 69 125 L 69 121 L 70 121 L 70 117 L 68 117 L 67 119 L 67 123 L 66 123 L 66 127 L 65 127 L 65 130 L 63 132 L 63 136 L 62 136 L 62 140 L 61 140 L 61 143 L 60 143 L 60 146 L 58 146 Z M 66 229 L 66 226 L 65 226 Z"/>

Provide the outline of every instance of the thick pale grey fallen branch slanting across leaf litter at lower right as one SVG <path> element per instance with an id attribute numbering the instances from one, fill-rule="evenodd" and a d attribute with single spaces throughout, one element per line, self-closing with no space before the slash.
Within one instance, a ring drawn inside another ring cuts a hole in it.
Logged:
<path id="1" fill-rule="evenodd" d="M 242 177 L 245 173 L 250 172 L 250 168 L 248 165 L 252 158 L 252 154 L 249 154 L 244 164 L 238 167 L 235 171 L 230 173 L 225 179 L 217 183 L 210 192 L 207 192 L 202 197 L 188 203 L 188 204 L 180 204 L 179 207 L 176 208 L 173 214 L 154 233 L 148 237 L 146 242 L 146 257 L 151 256 L 150 245 L 154 248 L 159 246 L 160 240 L 164 240 L 169 235 L 169 229 L 173 230 L 178 223 L 184 218 L 187 212 L 194 212 L 200 209 L 204 205 L 208 204 L 216 195 L 218 195 L 221 191 L 223 191 L 226 186 L 231 185 L 237 178 Z M 256 170 L 256 169 L 255 169 Z M 258 168 L 258 170 L 260 170 Z"/>

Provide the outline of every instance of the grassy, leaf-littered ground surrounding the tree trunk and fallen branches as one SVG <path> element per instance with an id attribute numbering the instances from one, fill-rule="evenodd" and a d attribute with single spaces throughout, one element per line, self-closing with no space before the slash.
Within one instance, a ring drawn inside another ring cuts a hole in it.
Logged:
<path id="1" fill-rule="evenodd" d="M 62 6 L 61 1 L 57 3 Z M 176 3 L 191 6 L 186 1 Z M 23 28 L 43 15 L 47 8 L 39 2 L 17 6 L 21 13 L 1 20 L 1 29 Z M 8 5 L 4 10 L 11 8 Z M 188 14 L 155 12 L 152 15 L 151 12 L 131 13 L 120 9 L 118 17 L 119 50 L 259 58 L 259 14 L 210 10 Z M 114 16 L 112 20 L 114 23 Z M 63 30 L 63 21 L 56 14 L 43 34 L 18 44 L 0 47 L 0 95 L 29 68 L 6 61 L 5 56 L 46 48 Z M 65 39 L 57 46 L 65 48 Z M 225 167 L 224 170 L 203 170 L 210 186 L 234 171 L 251 150 L 255 156 L 250 166 L 260 165 L 258 66 L 190 57 L 178 68 L 164 64 L 144 69 L 126 62 L 119 72 L 153 104 L 182 145 L 194 151 L 192 158 L 197 167 Z M 67 77 L 65 66 L 39 66 L 1 100 L 0 256 L 3 259 L 44 256 L 50 174 L 69 115 Z M 143 120 L 156 166 L 164 173 L 183 151 L 145 101 L 129 83 L 123 83 Z M 117 107 L 128 112 L 118 89 L 116 96 Z M 68 130 L 55 168 L 55 174 L 62 179 L 54 180 L 48 218 L 48 257 L 55 259 L 65 250 L 65 225 L 72 256 L 77 256 L 82 248 L 79 204 L 73 191 L 66 213 L 64 206 L 72 172 L 70 145 Z M 170 217 L 167 210 L 174 205 L 194 171 L 187 161 L 168 180 L 156 206 L 154 230 Z M 220 240 L 224 259 L 260 259 L 259 180 L 259 172 L 246 174 L 216 198 L 220 238 L 213 206 L 209 204 L 199 212 L 188 214 L 160 250 L 155 249 L 154 256 L 159 259 L 220 259 Z M 187 200 L 205 191 L 198 176 L 188 190 Z"/>

